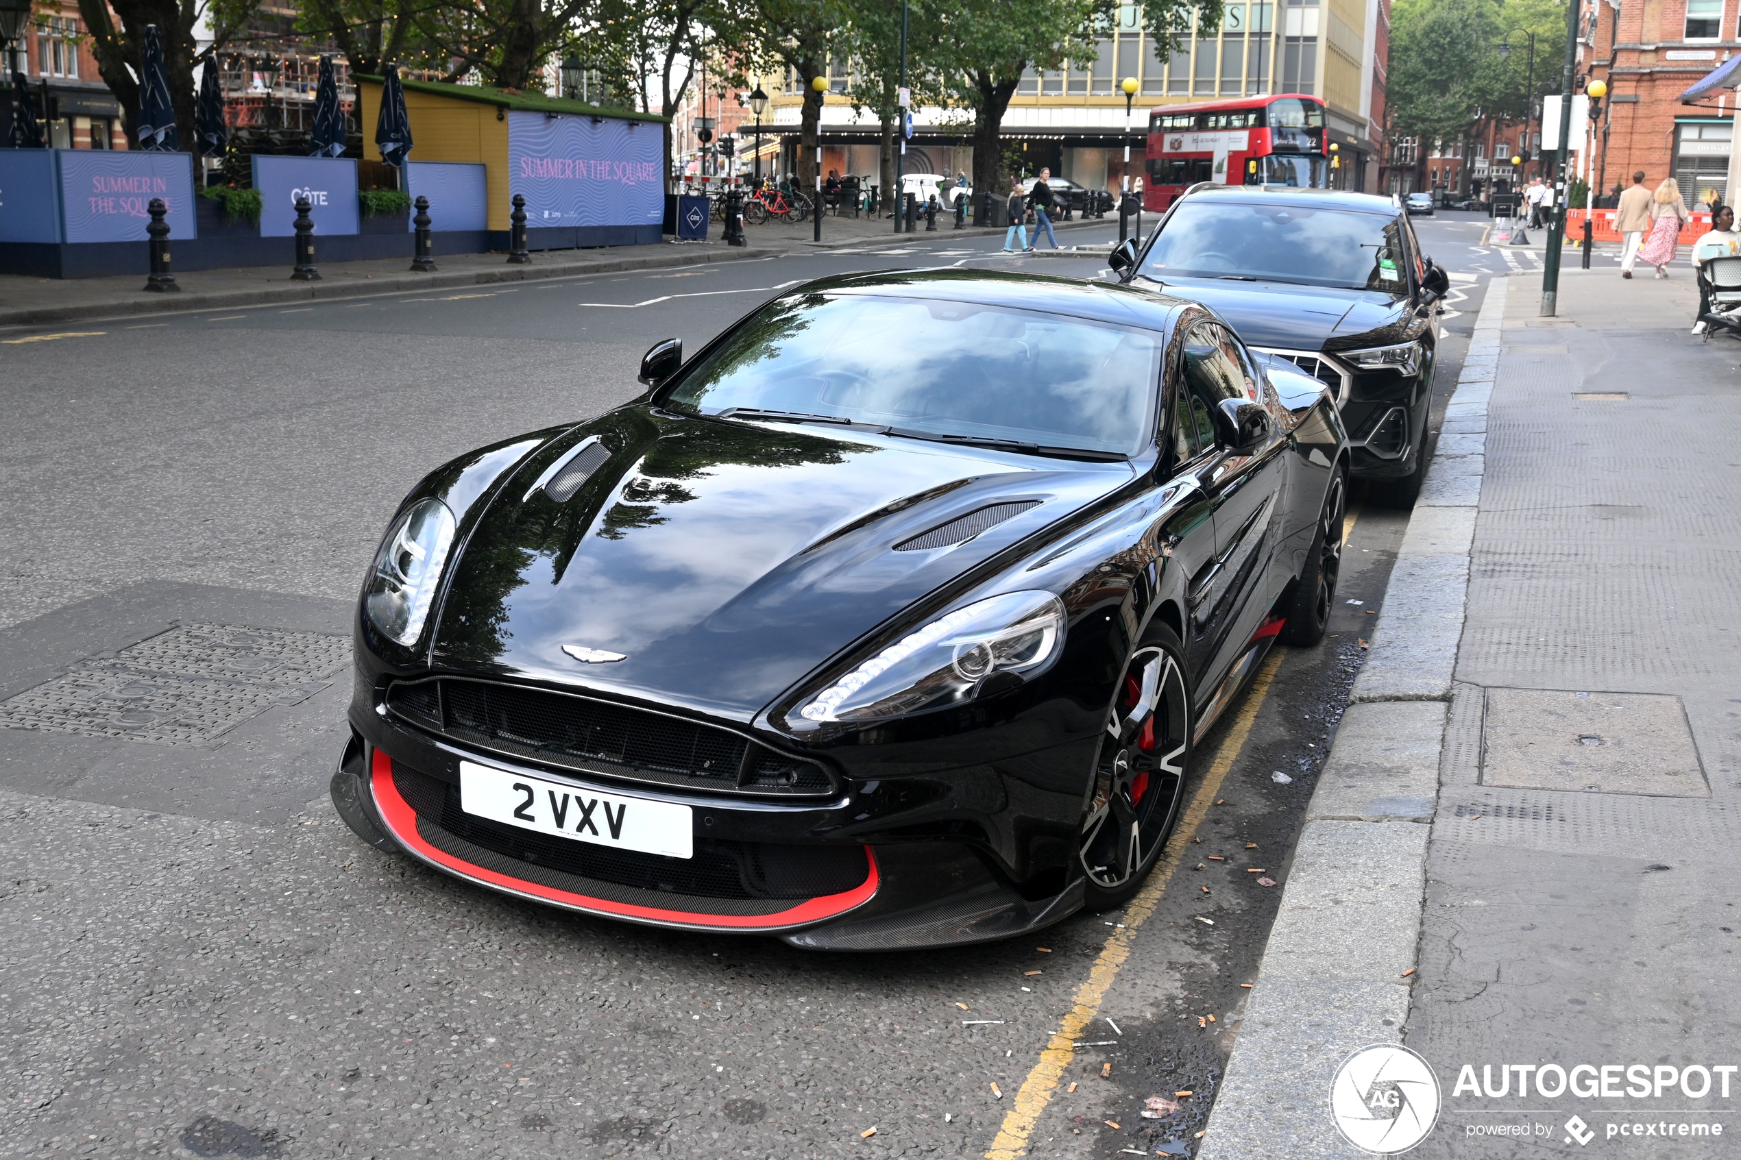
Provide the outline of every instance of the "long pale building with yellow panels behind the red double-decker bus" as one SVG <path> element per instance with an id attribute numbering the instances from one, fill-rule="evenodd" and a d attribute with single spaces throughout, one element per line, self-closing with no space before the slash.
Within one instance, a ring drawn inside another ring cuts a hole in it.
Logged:
<path id="1" fill-rule="evenodd" d="M 1121 5 L 1090 63 L 1057 71 L 1029 70 L 1003 118 L 1006 148 L 1027 172 L 1050 167 L 1090 188 L 1118 188 L 1123 174 L 1125 96 L 1139 83 L 1132 117 L 1132 160 L 1140 172 L 1147 110 L 1186 101 L 1304 92 L 1327 106 L 1328 139 L 1339 146 L 1334 184 L 1375 190 L 1382 139 L 1386 0 L 1229 0 L 1222 26 L 1194 30 L 1173 52 L 1156 52 L 1142 31 L 1142 9 Z M 830 68 L 834 92 L 822 111 L 822 167 L 876 181 L 879 125 L 858 117 L 844 92 L 850 75 Z M 796 77 L 764 77 L 770 94 L 764 134 L 785 137 L 780 169 L 792 170 L 801 87 Z M 971 172 L 965 110 L 914 110 L 907 172 Z"/>

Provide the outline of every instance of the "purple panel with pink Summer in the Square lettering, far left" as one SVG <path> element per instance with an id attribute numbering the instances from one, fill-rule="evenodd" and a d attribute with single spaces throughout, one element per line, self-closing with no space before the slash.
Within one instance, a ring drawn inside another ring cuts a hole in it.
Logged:
<path id="1" fill-rule="evenodd" d="M 148 242 L 151 198 L 164 198 L 171 238 L 192 238 L 193 155 L 143 150 L 56 150 L 68 242 Z"/>

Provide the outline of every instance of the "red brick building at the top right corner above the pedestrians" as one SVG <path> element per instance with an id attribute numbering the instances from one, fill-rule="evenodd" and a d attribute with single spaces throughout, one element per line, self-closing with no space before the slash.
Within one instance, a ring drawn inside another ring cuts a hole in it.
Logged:
<path id="1" fill-rule="evenodd" d="M 1725 202 L 1736 146 L 1738 90 L 1720 89 L 1701 106 L 1678 96 L 1741 52 L 1741 0 L 1598 0 L 1584 21 L 1581 71 L 1609 85 L 1591 127 L 1588 174 L 1607 193 L 1642 169 L 1649 184 L 1673 174 L 1687 202 L 1711 191 Z"/>

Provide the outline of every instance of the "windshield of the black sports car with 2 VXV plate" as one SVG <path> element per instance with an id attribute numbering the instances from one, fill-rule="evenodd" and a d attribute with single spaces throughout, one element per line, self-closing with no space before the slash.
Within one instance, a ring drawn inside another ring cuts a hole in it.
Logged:
<path id="1" fill-rule="evenodd" d="M 796 294 L 684 374 L 672 410 L 742 409 L 1133 456 L 1149 440 L 1161 336 L 940 299 Z M 1017 449 L 1020 450 L 1020 447 Z"/>

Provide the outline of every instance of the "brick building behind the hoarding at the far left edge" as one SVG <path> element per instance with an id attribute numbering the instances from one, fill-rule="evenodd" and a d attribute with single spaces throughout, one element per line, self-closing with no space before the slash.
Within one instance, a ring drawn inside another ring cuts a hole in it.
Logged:
<path id="1" fill-rule="evenodd" d="M 23 73 L 37 94 L 38 111 L 47 96 L 47 137 L 56 150 L 125 150 L 120 101 L 103 83 L 97 61 L 73 0 L 38 0 L 31 9 L 23 43 L 5 61 L 5 92 L 0 117 L 12 120 L 12 73 Z"/>

